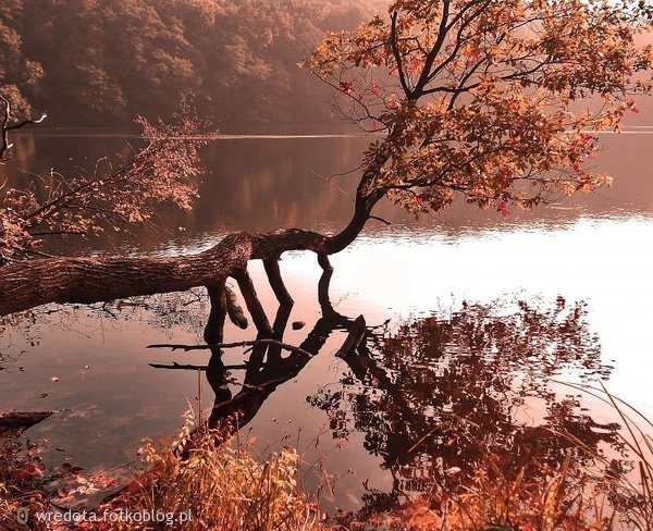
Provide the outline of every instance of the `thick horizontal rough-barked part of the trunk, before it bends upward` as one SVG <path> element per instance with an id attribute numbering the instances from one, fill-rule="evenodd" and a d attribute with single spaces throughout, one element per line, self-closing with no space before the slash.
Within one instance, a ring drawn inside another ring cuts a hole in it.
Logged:
<path id="1" fill-rule="evenodd" d="M 322 252 L 328 238 L 310 231 L 236 233 L 202 252 L 173 258 L 52 258 L 0 268 L 0 316 L 47 302 L 102 300 L 222 284 L 286 250 Z"/>

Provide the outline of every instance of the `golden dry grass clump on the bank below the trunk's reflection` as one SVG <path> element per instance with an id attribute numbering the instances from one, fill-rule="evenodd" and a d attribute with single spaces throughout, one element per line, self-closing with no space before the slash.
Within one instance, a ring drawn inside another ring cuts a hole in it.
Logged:
<path id="1" fill-rule="evenodd" d="M 183 529 L 312 530 L 320 529 L 320 510 L 313 496 L 298 485 L 299 456 L 284 447 L 268 459 L 255 458 L 249 445 L 215 446 L 210 431 L 196 432 L 186 459 L 193 416 L 173 444 L 148 442 L 143 448 L 140 489 L 127 489 L 115 510 L 190 511 Z M 132 492 L 130 492 L 132 491 Z M 136 491 L 136 492 L 134 492 Z M 134 523 L 114 529 L 139 529 Z"/>

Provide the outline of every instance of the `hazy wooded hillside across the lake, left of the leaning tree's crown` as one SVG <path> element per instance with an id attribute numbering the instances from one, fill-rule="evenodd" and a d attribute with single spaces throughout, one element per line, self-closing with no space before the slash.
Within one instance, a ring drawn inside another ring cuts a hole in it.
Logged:
<path id="1" fill-rule="evenodd" d="M 223 129 L 319 123 L 324 87 L 297 63 L 380 3 L 2 0 L 0 94 L 52 126 L 167 116 L 182 94 Z"/>

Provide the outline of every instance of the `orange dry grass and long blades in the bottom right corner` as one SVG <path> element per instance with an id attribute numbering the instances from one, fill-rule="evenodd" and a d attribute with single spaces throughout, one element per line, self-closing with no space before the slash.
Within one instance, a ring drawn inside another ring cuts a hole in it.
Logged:
<path id="1" fill-rule="evenodd" d="M 539 466 L 539 480 L 529 479 L 523 470 L 508 479 L 495 457 L 488 455 L 471 481 L 436 489 L 434 494 L 392 514 L 375 515 L 367 522 L 350 518 L 345 527 L 385 526 L 415 531 L 653 530 L 653 423 L 603 385 L 571 386 L 599 398 L 618 416 L 618 436 L 629 452 L 629 462 L 617 462 L 571 434 L 562 433 L 576 450 L 590 456 L 593 465 L 580 465 L 567 454 L 557 469 Z"/>

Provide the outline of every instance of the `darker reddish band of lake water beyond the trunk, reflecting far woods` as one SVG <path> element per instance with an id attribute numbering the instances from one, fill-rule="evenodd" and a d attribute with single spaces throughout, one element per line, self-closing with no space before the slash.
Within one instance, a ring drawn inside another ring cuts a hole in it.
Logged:
<path id="1" fill-rule="evenodd" d="M 653 180 L 645 157 L 651 135 L 604 135 L 605 150 L 595 164 L 615 177 L 613 188 L 567 198 L 564 205 L 534 211 L 515 211 L 500 219 L 494 210 L 479 211 L 455 203 L 435 219 L 416 221 L 390 202 L 379 205 L 377 213 L 393 222 L 391 232 L 404 234 L 416 227 L 444 233 L 455 238 L 480 230 L 500 227 L 512 231 L 564 225 L 579 217 L 627 218 L 653 211 Z M 51 169 L 70 174 L 91 168 L 95 161 L 124 149 L 131 138 L 121 137 L 16 137 L 15 157 L 0 166 L 0 180 L 10 186 L 24 187 L 34 178 L 32 172 Z M 187 251 L 206 246 L 230 231 L 273 231 L 280 227 L 332 231 L 350 217 L 357 173 L 347 174 L 360 163 L 368 139 L 356 138 L 233 138 L 211 143 L 202 152 L 206 172 L 201 176 L 200 198 L 190 212 L 162 207 L 158 231 L 134 227 L 132 236 L 106 234 L 101 239 L 66 239 L 48 247 L 54 254 L 79 254 L 93 250 Z M 336 174 L 333 180 L 328 177 Z M 180 230 L 182 227 L 183 230 Z M 370 223 L 368 234 L 385 231 Z"/>

